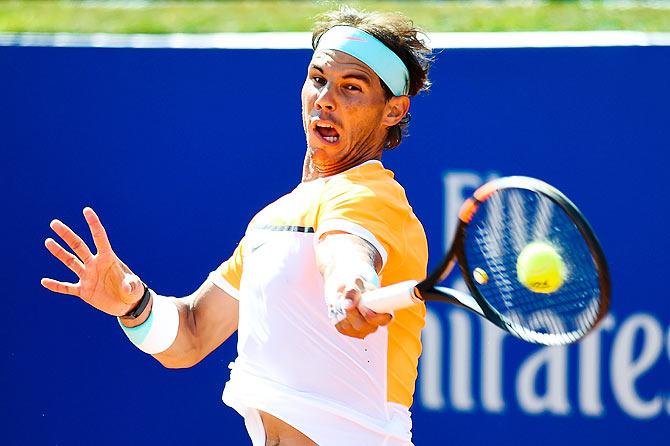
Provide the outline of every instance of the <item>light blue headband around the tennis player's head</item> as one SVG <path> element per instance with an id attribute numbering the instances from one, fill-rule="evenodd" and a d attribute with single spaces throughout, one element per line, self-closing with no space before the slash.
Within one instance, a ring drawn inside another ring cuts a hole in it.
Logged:
<path id="1" fill-rule="evenodd" d="M 375 37 L 353 26 L 338 25 L 326 31 L 316 51 L 338 50 L 370 67 L 395 96 L 409 92 L 409 71 L 403 61 Z"/>

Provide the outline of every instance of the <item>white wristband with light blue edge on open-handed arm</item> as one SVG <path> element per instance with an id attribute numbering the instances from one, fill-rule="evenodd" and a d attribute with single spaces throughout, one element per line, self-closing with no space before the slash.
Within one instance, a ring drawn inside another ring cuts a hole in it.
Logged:
<path id="1" fill-rule="evenodd" d="M 153 294 L 151 313 L 146 321 L 137 327 L 126 327 L 119 320 L 119 325 L 128 339 L 140 350 L 150 355 L 164 352 L 177 338 L 179 332 L 179 311 L 171 297 Z"/>

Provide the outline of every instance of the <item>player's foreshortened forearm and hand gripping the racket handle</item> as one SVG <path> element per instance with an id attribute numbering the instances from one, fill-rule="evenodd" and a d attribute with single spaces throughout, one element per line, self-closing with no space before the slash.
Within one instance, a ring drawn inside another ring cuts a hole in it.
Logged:
<path id="1" fill-rule="evenodd" d="M 336 325 L 340 333 L 362 339 L 391 321 L 390 314 L 375 313 L 361 304 L 361 294 L 378 286 L 370 275 L 382 267 L 371 244 L 356 235 L 329 232 L 319 240 L 316 255 L 326 299 L 348 300 L 347 317 Z"/>

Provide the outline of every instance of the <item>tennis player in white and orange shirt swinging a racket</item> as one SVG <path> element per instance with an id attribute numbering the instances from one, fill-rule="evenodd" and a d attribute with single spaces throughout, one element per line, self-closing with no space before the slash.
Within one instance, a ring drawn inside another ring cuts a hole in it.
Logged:
<path id="1" fill-rule="evenodd" d="M 312 40 L 302 182 L 253 218 L 197 291 L 148 289 L 91 208 L 96 254 L 58 220 L 73 253 L 45 242 L 79 282 L 42 284 L 118 316 L 169 368 L 197 364 L 237 330 L 223 401 L 254 446 L 411 445 L 425 308 L 377 314 L 360 296 L 426 274 L 423 228 L 381 157 L 401 142 L 409 97 L 429 87 L 430 50 L 406 18 L 350 8 L 322 16 Z"/>

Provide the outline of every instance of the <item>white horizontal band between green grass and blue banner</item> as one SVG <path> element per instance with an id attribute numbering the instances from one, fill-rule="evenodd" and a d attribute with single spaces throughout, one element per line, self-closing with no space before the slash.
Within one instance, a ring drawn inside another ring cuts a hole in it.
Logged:
<path id="1" fill-rule="evenodd" d="M 499 33 L 428 33 L 433 48 L 552 48 L 670 46 L 670 33 L 638 31 L 560 31 Z M 311 34 L 72 34 L 0 33 L 0 46 L 96 48 L 311 48 Z"/>

